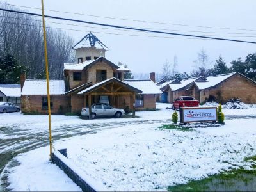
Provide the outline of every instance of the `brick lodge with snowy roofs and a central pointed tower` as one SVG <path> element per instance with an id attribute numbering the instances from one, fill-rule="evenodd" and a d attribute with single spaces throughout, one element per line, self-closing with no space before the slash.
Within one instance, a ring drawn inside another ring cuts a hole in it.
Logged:
<path id="1" fill-rule="evenodd" d="M 154 73 L 148 80 L 125 80 L 129 68 L 105 58 L 108 47 L 89 33 L 78 42 L 77 63 L 64 63 L 63 80 L 50 80 L 52 113 L 79 112 L 82 107 L 97 102 L 114 108 L 156 109 L 156 95 L 161 91 L 154 83 Z M 47 113 L 46 80 L 20 77 L 23 113 Z"/>

